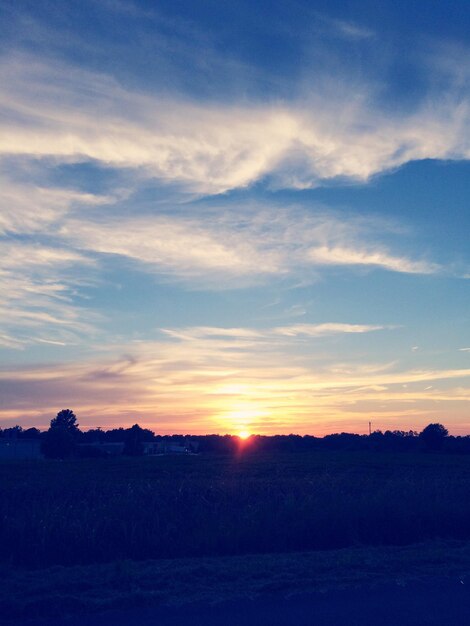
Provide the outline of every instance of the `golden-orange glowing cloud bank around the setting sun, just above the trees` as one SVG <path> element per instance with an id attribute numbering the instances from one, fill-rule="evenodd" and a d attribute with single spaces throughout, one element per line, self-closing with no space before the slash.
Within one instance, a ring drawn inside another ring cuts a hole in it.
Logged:
<path id="1" fill-rule="evenodd" d="M 315 350 L 296 352 L 292 338 L 327 341 L 379 327 L 296 326 L 167 329 L 159 340 L 108 347 L 92 360 L 0 370 L 0 419 L 46 425 L 64 403 L 83 427 L 138 420 L 158 432 L 247 426 L 321 434 L 344 424 L 357 431 L 370 415 L 377 427 L 408 429 L 438 420 L 444 408 L 455 422 L 465 419 L 470 392 L 458 381 L 469 369 L 332 362 Z"/>

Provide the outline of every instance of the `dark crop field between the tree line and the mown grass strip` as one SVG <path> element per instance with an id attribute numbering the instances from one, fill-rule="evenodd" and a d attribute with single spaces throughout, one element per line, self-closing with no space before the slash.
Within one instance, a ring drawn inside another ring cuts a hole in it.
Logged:
<path id="1" fill-rule="evenodd" d="M 4 462 L 0 560 L 43 568 L 470 538 L 470 456 Z"/>

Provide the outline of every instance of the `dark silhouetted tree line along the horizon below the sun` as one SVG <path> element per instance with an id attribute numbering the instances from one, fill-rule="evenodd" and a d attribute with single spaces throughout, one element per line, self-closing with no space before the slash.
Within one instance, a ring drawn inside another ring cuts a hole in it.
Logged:
<path id="1" fill-rule="evenodd" d="M 242 441 L 237 435 L 157 435 L 134 424 L 130 428 L 81 431 L 75 413 L 63 409 L 51 420 L 47 431 L 21 426 L 0 429 L 0 438 L 39 439 L 47 458 L 98 456 L 96 444 L 123 444 L 123 454 L 139 456 L 144 442 L 167 441 L 180 443 L 190 437 L 202 453 L 235 454 L 245 452 L 307 452 L 311 450 L 378 451 L 378 452 L 449 452 L 470 453 L 470 435 L 451 436 L 445 426 L 428 424 L 421 432 L 413 430 L 376 430 L 370 435 L 335 433 L 324 437 L 314 435 L 251 435 Z M 105 455 L 105 453 L 101 453 Z"/>

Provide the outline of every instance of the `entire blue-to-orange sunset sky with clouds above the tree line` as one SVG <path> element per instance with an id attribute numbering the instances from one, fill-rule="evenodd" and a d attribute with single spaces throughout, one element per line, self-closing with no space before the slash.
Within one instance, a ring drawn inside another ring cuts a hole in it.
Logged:
<path id="1" fill-rule="evenodd" d="M 0 427 L 470 434 L 467 0 L 2 0 Z"/>

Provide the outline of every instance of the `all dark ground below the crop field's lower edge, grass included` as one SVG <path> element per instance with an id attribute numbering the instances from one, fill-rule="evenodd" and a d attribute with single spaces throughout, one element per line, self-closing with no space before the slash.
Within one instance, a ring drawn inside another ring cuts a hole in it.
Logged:
<path id="1" fill-rule="evenodd" d="M 470 624 L 470 543 L 21 570 L 15 626 Z"/>

